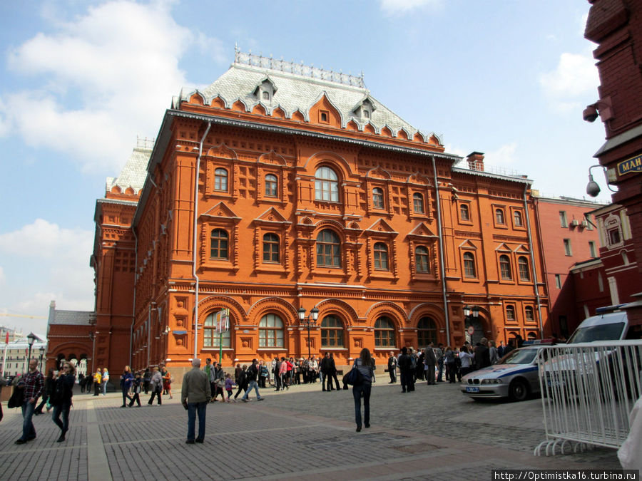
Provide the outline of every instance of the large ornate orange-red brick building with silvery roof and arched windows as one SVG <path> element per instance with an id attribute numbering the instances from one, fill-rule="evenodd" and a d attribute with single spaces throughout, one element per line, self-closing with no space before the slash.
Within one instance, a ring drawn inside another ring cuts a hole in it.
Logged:
<path id="1" fill-rule="evenodd" d="M 382 363 L 546 324 L 531 181 L 479 152 L 459 167 L 360 77 L 237 52 L 138 153 L 96 205 L 95 357 L 111 371 L 176 376 L 220 348 L 226 367 L 308 350 L 345 366 L 363 347 Z"/>

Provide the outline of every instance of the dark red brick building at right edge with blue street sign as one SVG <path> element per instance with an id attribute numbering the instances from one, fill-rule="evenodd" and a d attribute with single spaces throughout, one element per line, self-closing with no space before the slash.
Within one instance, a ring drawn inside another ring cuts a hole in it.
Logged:
<path id="1" fill-rule="evenodd" d="M 595 157 L 618 192 L 613 203 L 626 209 L 633 251 L 642 257 L 642 3 L 636 0 L 588 0 L 584 36 L 598 44 L 599 100 L 584 110 L 592 122 L 599 114 L 606 143 Z M 594 185 L 592 185 L 594 189 Z M 640 271 L 641 266 L 636 267 Z M 638 284 L 638 294 L 642 295 Z M 636 299 L 640 299 L 638 296 Z M 642 301 L 629 310 L 642 324 Z"/>

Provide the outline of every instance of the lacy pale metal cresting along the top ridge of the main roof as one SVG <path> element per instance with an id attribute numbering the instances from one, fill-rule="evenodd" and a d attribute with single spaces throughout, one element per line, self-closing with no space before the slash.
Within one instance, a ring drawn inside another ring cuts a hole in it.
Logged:
<path id="1" fill-rule="evenodd" d="M 303 62 L 295 63 L 294 61 L 285 61 L 282 58 L 264 57 L 262 55 L 255 55 L 250 51 L 243 53 L 238 47 L 234 48 L 234 63 L 239 65 L 248 65 L 258 68 L 265 68 L 267 70 L 292 73 L 297 76 L 318 78 L 323 81 L 340 83 L 346 86 L 366 88 L 363 80 L 363 72 L 361 76 L 354 76 L 350 73 L 342 73 L 341 71 L 335 72 L 334 70 L 325 70 L 315 66 L 305 66 Z"/>

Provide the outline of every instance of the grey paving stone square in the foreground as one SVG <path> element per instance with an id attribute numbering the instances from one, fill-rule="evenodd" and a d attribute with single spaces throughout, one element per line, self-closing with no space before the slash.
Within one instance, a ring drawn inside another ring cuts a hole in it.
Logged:
<path id="1" fill-rule="evenodd" d="M 177 391 L 177 390 L 175 390 Z M 177 391 L 178 392 L 178 391 Z M 352 391 L 292 386 L 265 401 L 212 403 L 203 445 L 186 445 L 179 403 L 120 408 L 121 395 L 76 393 L 68 440 L 50 415 L 38 438 L 15 445 L 19 409 L 4 407 L 0 480 L 461 480 L 493 469 L 617 469 L 615 450 L 536 457 L 544 440 L 541 400 L 477 403 L 457 385 L 419 383 L 413 393 L 379 384 L 372 427 L 355 432 Z M 252 396 L 253 397 L 253 396 Z"/>

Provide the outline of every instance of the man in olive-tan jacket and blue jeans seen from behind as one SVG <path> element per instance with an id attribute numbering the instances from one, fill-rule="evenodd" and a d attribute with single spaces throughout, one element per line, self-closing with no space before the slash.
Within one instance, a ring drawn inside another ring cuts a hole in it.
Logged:
<path id="1" fill-rule="evenodd" d="M 205 438 L 205 409 L 208 407 L 212 391 L 208 375 L 200 370 L 200 359 L 192 360 L 193 368 L 183 376 L 180 401 L 188 410 L 188 439 L 185 443 L 203 443 Z M 198 412 L 198 438 L 194 439 L 196 413 Z"/>

